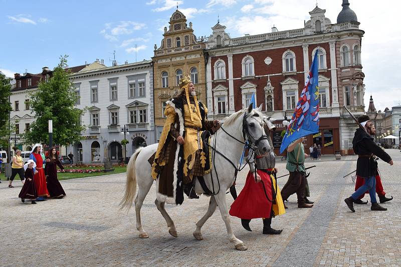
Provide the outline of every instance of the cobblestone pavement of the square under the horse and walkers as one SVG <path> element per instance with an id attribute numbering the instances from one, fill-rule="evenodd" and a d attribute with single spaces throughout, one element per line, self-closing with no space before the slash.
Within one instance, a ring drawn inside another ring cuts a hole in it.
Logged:
<path id="1" fill-rule="evenodd" d="M 166 205 L 178 231 L 168 234 L 166 223 L 154 205 L 155 186 L 142 207 L 142 223 L 149 238 L 140 239 L 135 211 L 118 211 L 125 183 L 124 174 L 61 181 L 67 197 L 22 203 L 15 188 L 0 184 L 0 266 L 401 266 L 401 153 L 386 149 L 394 165 L 380 161 L 384 190 L 394 200 L 384 203 L 387 211 L 371 211 L 370 204 L 349 211 L 344 198 L 353 191 L 351 177 L 343 175 L 356 167 L 356 157 L 334 160 L 307 159 L 316 164 L 308 178 L 315 206 L 297 208 L 289 197 L 286 214 L 273 219 L 283 228 L 280 235 L 263 235 L 262 220 L 254 219 L 252 232 L 232 217 L 234 233 L 248 246 L 237 251 L 228 241 L 219 210 L 206 222 L 204 240 L 192 232 L 205 214 L 209 198 L 185 199 L 182 206 Z M 277 163 L 285 173 L 284 161 Z M 247 169 L 239 173 L 238 192 Z M 278 180 L 282 187 L 287 178 Z M 369 199 L 369 196 L 365 196 Z M 227 194 L 227 202 L 233 201 Z M 28 202 L 28 201 L 27 201 Z"/>

